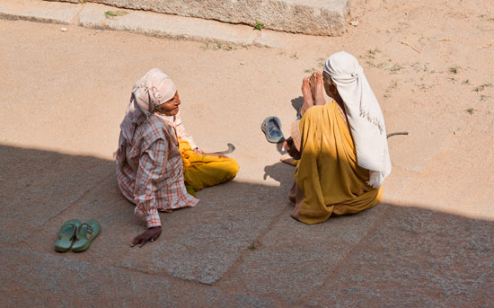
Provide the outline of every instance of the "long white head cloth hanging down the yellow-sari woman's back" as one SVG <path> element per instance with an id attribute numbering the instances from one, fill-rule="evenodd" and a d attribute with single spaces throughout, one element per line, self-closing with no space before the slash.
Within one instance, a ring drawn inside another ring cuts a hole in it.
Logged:
<path id="1" fill-rule="evenodd" d="M 326 59 L 324 72 L 336 84 L 347 111 L 357 163 L 369 170 L 367 184 L 378 188 L 391 172 L 384 117 L 362 66 L 345 51 Z"/>

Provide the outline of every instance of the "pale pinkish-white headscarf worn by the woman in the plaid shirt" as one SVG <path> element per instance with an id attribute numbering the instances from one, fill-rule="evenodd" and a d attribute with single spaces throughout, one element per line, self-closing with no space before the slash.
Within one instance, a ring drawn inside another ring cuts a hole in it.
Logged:
<path id="1" fill-rule="evenodd" d="M 132 88 L 125 118 L 120 124 L 119 149 L 115 153 L 120 163 L 125 161 L 124 145 L 132 145 L 132 138 L 138 125 L 142 124 L 154 109 L 170 101 L 177 92 L 172 79 L 159 68 L 153 68 Z"/>

